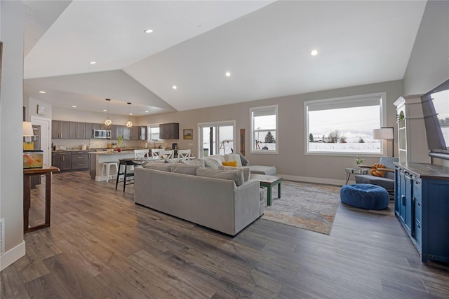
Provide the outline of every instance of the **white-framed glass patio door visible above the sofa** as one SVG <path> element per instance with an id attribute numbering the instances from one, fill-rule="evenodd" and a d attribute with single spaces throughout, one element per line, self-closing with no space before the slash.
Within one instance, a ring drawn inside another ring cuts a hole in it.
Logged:
<path id="1" fill-rule="evenodd" d="M 234 153 L 235 140 L 234 128 L 235 120 L 219 123 L 200 123 L 199 140 L 201 144 L 200 157 L 214 154 Z"/>

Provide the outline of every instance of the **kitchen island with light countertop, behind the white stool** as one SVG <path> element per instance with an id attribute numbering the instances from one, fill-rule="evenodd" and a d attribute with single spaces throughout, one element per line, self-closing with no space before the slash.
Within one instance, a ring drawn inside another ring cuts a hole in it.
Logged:
<path id="1" fill-rule="evenodd" d="M 119 160 L 124 158 L 134 158 L 134 150 L 122 150 L 118 151 L 91 151 L 91 179 L 95 181 L 106 181 L 106 174 L 102 174 L 103 163 L 105 162 L 117 162 L 119 165 Z M 110 179 L 116 179 L 115 169 L 111 169 L 112 173 Z M 109 180 L 110 180 L 109 179 Z"/>

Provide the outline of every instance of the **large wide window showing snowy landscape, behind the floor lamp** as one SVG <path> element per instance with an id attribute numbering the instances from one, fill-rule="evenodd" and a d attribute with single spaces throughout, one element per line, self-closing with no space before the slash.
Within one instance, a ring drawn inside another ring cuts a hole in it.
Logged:
<path id="1" fill-rule="evenodd" d="M 385 92 L 304 102 L 306 153 L 382 154 Z"/>

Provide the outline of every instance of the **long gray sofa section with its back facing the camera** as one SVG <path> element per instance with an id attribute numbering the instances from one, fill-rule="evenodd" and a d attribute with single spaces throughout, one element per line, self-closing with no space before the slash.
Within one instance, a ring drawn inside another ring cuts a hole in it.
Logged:
<path id="1" fill-rule="evenodd" d="M 237 169 L 149 162 L 134 172 L 136 204 L 228 235 L 264 213 L 259 181 L 245 181 Z"/>

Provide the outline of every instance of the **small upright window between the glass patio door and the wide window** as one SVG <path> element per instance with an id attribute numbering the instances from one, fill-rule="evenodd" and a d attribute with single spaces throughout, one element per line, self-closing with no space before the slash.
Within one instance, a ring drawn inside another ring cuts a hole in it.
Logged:
<path id="1" fill-rule="evenodd" d="M 250 109 L 251 153 L 278 153 L 278 106 Z"/>

